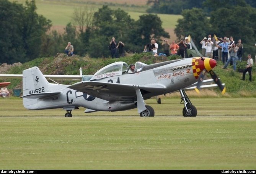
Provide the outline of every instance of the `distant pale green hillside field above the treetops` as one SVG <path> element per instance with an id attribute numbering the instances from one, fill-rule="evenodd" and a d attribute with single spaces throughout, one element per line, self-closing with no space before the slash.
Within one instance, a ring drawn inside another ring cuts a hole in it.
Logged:
<path id="1" fill-rule="evenodd" d="M 18 3 L 24 3 L 25 0 L 17 0 Z M 109 5 L 109 8 L 112 10 L 116 10 L 120 8 L 126 11 L 132 19 L 138 20 L 139 16 L 146 14 L 145 6 L 125 6 L 125 5 L 111 5 L 111 3 L 67 3 L 61 1 L 50 1 L 44 0 L 36 1 L 37 13 L 39 15 L 43 15 L 45 18 L 50 19 L 52 24 L 66 26 L 69 22 L 72 22 L 72 16 L 74 13 L 74 9 L 78 7 L 90 6 L 94 11 L 98 11 L 98 8 L 102 8 L 103 4 Z M 158 14 L 163 22 L 163 28 L 175 28 L 177 24 L 177 20 L 182 18 L 181 15 L 165 15 Z"/>

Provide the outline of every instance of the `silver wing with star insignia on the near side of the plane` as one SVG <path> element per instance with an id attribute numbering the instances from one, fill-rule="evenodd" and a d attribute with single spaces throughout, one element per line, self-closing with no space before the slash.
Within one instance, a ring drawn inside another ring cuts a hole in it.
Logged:
<path id="1" fill-rule="evenodd" d="M 68 86 L 80 92 L 93 95 L 107 101 L 131 100 L 136 101 L 137 95 L 135 90 L 141 89 L 142 93 L 153 92 L 159 89 L 165 89 L 161 85 L 139 86 L 129 84 L 118 84 L 108 82 L 82 81 Z"/>

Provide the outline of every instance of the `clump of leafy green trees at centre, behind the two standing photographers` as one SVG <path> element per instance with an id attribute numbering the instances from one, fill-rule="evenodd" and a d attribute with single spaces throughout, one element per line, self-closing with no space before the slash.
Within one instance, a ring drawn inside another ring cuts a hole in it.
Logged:
<path id="1" fill-rule="evenodd" d="M 142 15 L 138 21 L 134 21 L 125 11 L 111 10 L 104 5 L 93 16 L 88 54 L 110 56 L 108 45 L 112 37 L 116 38 L 117 43 L 119 40 L 124 42 L 126 52 L 142 52 L 152 37 L 170 37 L 161 25 L 162 21 L 157 15 Z"/>

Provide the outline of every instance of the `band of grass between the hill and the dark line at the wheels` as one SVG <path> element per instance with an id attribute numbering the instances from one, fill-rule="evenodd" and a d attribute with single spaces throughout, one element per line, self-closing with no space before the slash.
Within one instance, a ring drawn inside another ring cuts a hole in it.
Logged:
<path id="1" fill-rule="evenodd" d="M 191 94 L 191 95 L 190 95 Z M 256 115 L 255 98 L 194 98 L 192 93 L 188 94 L 192 104 L 197 108 L 197 116 L 227 116 L 227 115 Z M 168 96 L 168 97 L 167 97 Z M 170 97 L 169 97 L 170 96 Z M 174 93 L 167 94 L 166 97 L 161 97 L 161 104 L 157 103 L 156 98 L 145 100 L 146 105 L 150 105 L 155 110 L 156 116 L 180 116 L 183 117 L 182 110 L 184 105 L 181 104 L 181 98 L 172 97 L 178 96 Z M 23 101 L 18 97 L 2 98 L 0 97 L 1 116 L 63 116 L 66 111 L 60 109 L 52 110 L 27 110 L 23 106 Z M 182 102 L 183 103 L 183 102 Z M 78 110 L 73 110 L 73 117 L 76 116 L 139 116 L 137 109 L 117 112 L 99 111 L 94 113 L 84 113 L 85 108 L 80 107 Z"/>

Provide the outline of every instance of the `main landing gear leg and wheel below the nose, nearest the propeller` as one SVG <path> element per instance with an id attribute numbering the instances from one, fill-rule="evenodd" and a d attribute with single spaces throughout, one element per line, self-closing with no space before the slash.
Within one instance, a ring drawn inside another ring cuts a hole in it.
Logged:
<path id="1" fill-rule="evenodd" d="M 187 94 L 185 93 L 184 89 L 180 89 L 179 93 L 181 94 L 181 102 L 183 101 L 184 108 L 183 108 L 183 116 L 184 117 L 196 117 L 197 110 L 194 105 L 192 105 L 191 101 L 189 100 Z M 182 103 L 181 103 L 182 104 Z"/>

